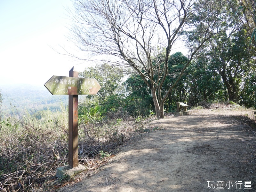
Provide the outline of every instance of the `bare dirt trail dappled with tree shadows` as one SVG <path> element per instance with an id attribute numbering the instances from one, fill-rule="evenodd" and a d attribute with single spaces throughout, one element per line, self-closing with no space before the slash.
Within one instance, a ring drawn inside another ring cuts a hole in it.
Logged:
<path id="1" fill-rule="evenodd" d="M 158 130 L 141 134 L 97 174 L 59 192 L 255 192 L 256 133 L 236 117 L 245 113 L 252 112 L 200 110 L 154 121 Z"/>

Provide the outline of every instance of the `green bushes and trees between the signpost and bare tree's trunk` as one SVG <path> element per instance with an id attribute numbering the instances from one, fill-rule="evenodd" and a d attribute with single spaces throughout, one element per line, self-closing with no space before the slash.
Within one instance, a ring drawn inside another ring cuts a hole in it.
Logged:
<path id="1" fill-rule="evenodd" d="M 80 74 L 85 78 L 97 79 L 101 89 L 98 97 L 87 96 L 84 102 L 81 103 L 79 122 L 98 121 L 108 113 L 117 111 L 123 111 L 132 116 L 152 114 L 153 100 L 144 81 L 138 75 L 132 74 L 121 84 L 124 75 L 120 71 L 121 68 L 104 64 L 94 68 L 90 67 Z M 125 93 L 124 87 L 129 93 L 128 96 L 120 94 Z M 91 98 L 92 100 L 90 100 Z"/>

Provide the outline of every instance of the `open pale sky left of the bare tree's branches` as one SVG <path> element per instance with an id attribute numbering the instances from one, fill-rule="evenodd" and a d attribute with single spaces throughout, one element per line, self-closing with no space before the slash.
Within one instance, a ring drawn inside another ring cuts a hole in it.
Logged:
<path id="1" fill-rule="evenodd" d="M 67 38 L 67 7 L 70 0 L 0 0 L 0 86 L 43 86 L 52 75 L 88 66 L 55 51 L 78 53 Z"/>

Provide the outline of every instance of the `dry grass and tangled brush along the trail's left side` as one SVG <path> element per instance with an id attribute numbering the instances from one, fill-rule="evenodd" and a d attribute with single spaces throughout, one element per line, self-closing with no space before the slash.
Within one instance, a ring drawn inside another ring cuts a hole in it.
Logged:
<path id="1" fill-rule="evenodd" d="M 88 170 L 100 166 L 132 134 L 144 132 L 146 124 L 145 119 L 135 119 L 121 109 L 104 116 L 97 106 L 84 109 L 79 115 L 79 164 Z M 65 182 L 65 178 L 56 178 L 56 169 L 68 164 L 68 111 L 64 106 L 57 112 L 42 112 L 40 119 L 28 111 L 16 117 L 1 111 L 0 125 L 1 191 L 46 191 Z"/>

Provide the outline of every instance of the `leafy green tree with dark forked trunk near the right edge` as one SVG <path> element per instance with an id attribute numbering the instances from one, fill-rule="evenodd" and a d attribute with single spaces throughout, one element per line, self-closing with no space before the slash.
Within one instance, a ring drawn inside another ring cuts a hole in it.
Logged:
<path id="1" fill-rule="evenodd" d="M 241 83 L 256 67 L 253 50 L 248 51 L 248 43 L 244 29 L 229 36 L 222 33 L 211 43 L 212 64 L 222 77 L 230 101 L 239 101 Z"/>

